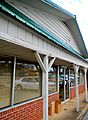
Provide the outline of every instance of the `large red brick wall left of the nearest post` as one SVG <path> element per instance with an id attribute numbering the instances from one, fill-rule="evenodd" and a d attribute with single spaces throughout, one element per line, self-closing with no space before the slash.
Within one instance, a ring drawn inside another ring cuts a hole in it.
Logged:
<path id="1" fill-rule="evenodd" d="M 0 120 L 40 120 L 42 117 L 42 99 L 0 112 Z"/>

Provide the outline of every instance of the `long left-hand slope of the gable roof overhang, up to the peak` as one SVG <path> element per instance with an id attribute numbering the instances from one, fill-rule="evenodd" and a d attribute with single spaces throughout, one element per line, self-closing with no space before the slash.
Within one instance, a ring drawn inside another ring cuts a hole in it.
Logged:
<path id="1" fill-rule="evenodd" d="M 9 3 L 11 2 L 11 0 L 5 0 L 5 1 L 6 2 L 9 1 Z M 51 0 L 35 0 L 35 1 L 34 0 L 13 0 L 13 1 L 14 2 L 17 1 L 25 5 L 29 5 L 33 8 L 45 11 L 49 14 L 58 16 L 62 20 L 68 20 L 71 18 L 75 18 L 73 14 L 64 10 L 62 7 L 53 3 Z"/>

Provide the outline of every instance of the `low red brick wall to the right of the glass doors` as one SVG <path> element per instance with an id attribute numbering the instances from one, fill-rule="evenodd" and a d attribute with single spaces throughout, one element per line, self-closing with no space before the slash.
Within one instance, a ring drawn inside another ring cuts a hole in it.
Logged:
<path id="1" fill-rule="evenodd" d="M 79 88 L 79 94 L 85 91 L 85 86 L 84 84 L 81 84 L 78 86 Z M 76 89 L 75 87 L 70 88 L 70 99 L 74 98 L 76 96 Z"/>

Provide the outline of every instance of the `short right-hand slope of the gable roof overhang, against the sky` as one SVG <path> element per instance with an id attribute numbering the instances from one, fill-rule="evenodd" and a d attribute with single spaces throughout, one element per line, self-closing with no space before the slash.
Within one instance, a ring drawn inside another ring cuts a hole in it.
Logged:
<path id="1" fill-rule="evenodd" d="M 78 46 L 82 56 L 84 58 L 88 58 L 88 52 L 87 52 L 87 49 L 86 49 L 85 43 L 83 41 L 83 37 L 82 37 L 82 34 L 80 32 L 80 29 L 79 29 L 79 26 L 78 26 L 76 19 L 68 20 L 67 24 L 70 28 L 70 31 L 73 35 L 74 40 L 77 43 L 77 46 Z"/>

